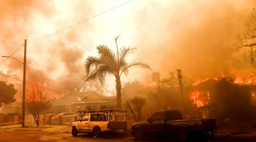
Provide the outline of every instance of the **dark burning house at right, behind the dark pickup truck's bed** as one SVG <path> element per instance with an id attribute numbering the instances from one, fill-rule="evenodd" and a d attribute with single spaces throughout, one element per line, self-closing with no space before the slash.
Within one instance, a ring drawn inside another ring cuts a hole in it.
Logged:
<path id="1" fill-rule="evenodd" d="M 255 91 L 255 85 L 221 77 L 190 86 L 189 98 L 207 112 L 207 117 L 241 121 L 255 118 Z"/>

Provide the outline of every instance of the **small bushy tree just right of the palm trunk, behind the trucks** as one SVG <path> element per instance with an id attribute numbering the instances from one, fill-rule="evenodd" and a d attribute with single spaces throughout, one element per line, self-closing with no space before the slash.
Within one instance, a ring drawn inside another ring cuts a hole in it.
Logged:
<path id="1" fill-rule="evenodd" d="M 126 101 L 126 107 L 131 111 L 136 122 L 141 120 L 141 109 L 145 103 L 146 99 L 143 97 L 134 97 Z"/>

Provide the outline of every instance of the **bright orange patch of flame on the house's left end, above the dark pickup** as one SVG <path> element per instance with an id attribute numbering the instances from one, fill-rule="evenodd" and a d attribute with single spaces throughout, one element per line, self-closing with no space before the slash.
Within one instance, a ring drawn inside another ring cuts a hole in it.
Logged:
<path id="1" fill-rule="evenodd" d="M 189 93 L 189 98 L 196 106 L 205 106 L 209 104 L 209 91 L 192 91 L 191 93 Z"/>

